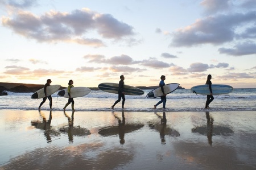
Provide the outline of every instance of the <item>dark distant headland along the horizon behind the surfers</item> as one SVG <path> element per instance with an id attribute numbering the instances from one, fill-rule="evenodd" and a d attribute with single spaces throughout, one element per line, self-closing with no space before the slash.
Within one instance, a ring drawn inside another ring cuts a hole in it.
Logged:
<path id="1" fill-rule="evenodd" d="M 23 84 L 23 83 L 13 83 L 13 82 L 0 82 L 0 95 L 7 95 L 7 92 L 14 92 L 14 93 L 31 93 L 36 92 L 39 89 L 42 89 L 44 84 Z M 60 87 L 60 90 L 65 89 L 67 87 Z M 137 86 L 137 88 L 142 90 L 150 90 L 156 89 L 158 86 Z M 99 90 L 98 87 L 89 88 L 91 90 Z M 184 89 L 183 87 L 179 86 L 178 89 Z"/>

